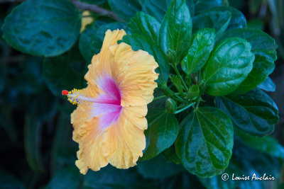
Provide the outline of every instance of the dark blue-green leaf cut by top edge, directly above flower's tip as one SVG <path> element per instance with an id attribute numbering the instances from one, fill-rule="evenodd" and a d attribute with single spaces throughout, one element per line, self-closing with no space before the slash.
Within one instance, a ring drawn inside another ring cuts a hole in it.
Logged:
<path id="1" fill-rule="evenodd" d="M 111 11 L 114 11 L 124 21 L 129 21 L 142 7 L 139 0 L 108 0 Z"/>

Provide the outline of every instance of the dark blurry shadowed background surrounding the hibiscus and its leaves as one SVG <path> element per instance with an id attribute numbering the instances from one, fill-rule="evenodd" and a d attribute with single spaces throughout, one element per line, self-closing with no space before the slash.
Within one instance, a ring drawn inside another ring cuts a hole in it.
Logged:
<path id="1" fill-rule="evenodd" d="M 109 8 L 107 1 L 99 3 Z M 248 27 L 264 30 L 278 44 L 278 60 L 271 74 L 276 91 L 268 94 L 278 105 L 280 115 L 273 136 L 284 145 L 284 1 L 231 0 L 229 4 L 244 13 Z M 0 3 L 0 25 L 17 5 Z M 102 20 L 107 23 L 110 18 Z M 79 173 L 75 166 L 78 147 L 72 141 L 70 124 L 75 105 L 60 93 L 70 86 L 85 85 L 87 62 L 77 47 L 58 57 L 43 58 L 14 50 L 0 38 L 0 188 L 208 188 L 208 181 L 181 166 L 165 166 L 162 155 L 126 171 L 108 166 L 99 172 L 89 171 L 87 176 Z M 93 48 L 99 52 L 100 47 Z M 258 151 L 254 149 L 239 148 L 234 153 L 250 156 L 247 166 L 258 164 L 260 170 L 263 165 L 271 166 L 278 175 L 277 183 L 243 183 L 239 188 L 277 188 L 284 182 L 284 169 L 280 171 L 281 164 L 272 157 L 255 160 Z M 218 182 L 214 183 L 217 188 Z"/>

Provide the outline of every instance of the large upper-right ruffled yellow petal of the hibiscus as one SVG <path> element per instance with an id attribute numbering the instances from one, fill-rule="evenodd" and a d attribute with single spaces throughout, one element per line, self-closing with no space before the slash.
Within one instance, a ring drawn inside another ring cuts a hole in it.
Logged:
<path id="1" fill-rule="evenodd" d="M 121 105 L 141 106 L 153 101 L 153 91 L 157 87 L 155 80 L 158 67 L 153 56 L 143 50 L 133 51 L 122 42 L 109 47 L 114 56 L 111 73 L 121 90 Z"/>

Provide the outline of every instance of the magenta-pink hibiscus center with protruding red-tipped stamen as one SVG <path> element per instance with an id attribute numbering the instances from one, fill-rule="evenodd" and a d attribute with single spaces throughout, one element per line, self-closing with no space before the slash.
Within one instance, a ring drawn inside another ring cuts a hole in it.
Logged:
<path id="1" fill-rule="evenodd" d="M 85 94 L 82 90 L 74 89 L 70 92 L 62 91 L 68 96 L 68 101 L 73 104 L 84 104 L 91 106 L 90 117 L 99 117 L 99 130 L 104 131 L 119 119 L 121 113 L 121 92 L 114 79 L 103 74 L 96 81 L 97 86 L 102 90 L 96 98 Z"/>

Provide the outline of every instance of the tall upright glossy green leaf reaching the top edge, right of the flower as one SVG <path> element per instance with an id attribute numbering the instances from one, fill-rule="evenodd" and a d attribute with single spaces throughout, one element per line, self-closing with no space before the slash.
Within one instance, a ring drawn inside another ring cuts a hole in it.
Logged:
<path id="1" fill-rule="evenodd" d="M 190 47 L 192 21 L 185 0 L 174 0 L 170 4 L 160 25 L 158 43 L 166 54 L 175 52 L 176 61 L 180 62 Z"/>

